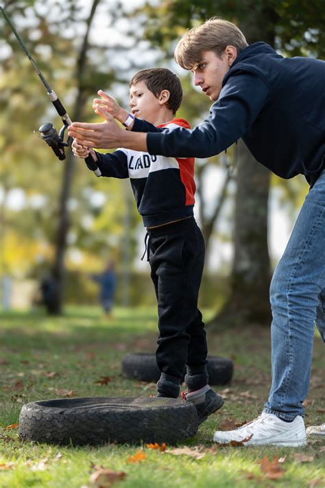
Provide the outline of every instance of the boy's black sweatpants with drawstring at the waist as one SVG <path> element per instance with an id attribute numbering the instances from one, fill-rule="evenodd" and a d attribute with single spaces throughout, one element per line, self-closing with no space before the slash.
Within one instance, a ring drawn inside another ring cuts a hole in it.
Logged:
<path id="1" fill-rule="evenodd" d="M 162 373 L 158 394 L 177 397 L 185 364 L 187 375 L 197 375 L 197 388 L 208 382 L 206 332 L 197 308 L 204 237 L 193 217 L 147 232 L 151 277 L 158 301 L 156 360 Z"/>

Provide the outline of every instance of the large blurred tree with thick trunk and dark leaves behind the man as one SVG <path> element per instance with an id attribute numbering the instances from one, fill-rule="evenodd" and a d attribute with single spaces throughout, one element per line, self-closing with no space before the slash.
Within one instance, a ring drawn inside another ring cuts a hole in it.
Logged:
<path id="1" fill-rule="evenodd" d="M 264 40 L 289 54 L 322 56 L 325 52 L 325 10 L 320 10 L 318 0 L 207 0 L 204 3 L 165 0 L 158 8 L 147 3 L 142 11 L 150 19 L 147 38 L 164 46 L 169 54 L 175 47 L 174 40 L 180 38 L 186 28 L 216 15 L 239 25 L 248 43 Z M 270 174 L 265 167 L 256 164 L 242 141 L 238 143 L 236 168 L 230 296 L 211 324 L 240 327 L 251 321 L 268 324 L 271 318 L 267 248 Z"/>

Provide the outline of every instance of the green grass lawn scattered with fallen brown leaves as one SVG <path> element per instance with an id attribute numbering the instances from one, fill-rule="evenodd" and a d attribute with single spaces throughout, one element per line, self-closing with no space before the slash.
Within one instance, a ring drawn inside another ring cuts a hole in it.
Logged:
<path id="1" fill-rule="evenodd" d="M 120 364 L 125 353 L 154 351 L 154 309 L 115 310 L 107 321 L 93 307 L 70 307 L 64 316 L 42 312 L 12 312 L 0 316 L 0 487 L 93 486 L 93 465 L 126 473 L 121 488 L 200 487 L 325 487 L 324 440 L 309 441 L 306 448 L 218 448 L 210 442 L 213 430 L 226 420 L 249 421 L 261 412 L 270 384 L 269 330 L 208 333 L 210 355 L 234 360 L 232 384 L 221 386 L 226 397 L 222 410 L 202 424 L 195 439 L 178 447 L 200 445 L 205 456 L 174 456 L 142 447 L 144 461 L 128 463 L 139 446 L 108 444 L 99 448 L 36 445 L 22 442 L 17 429 L 22 404 L 59 397 L 56 388 L 80 397 L 143 396 L 155 393 L 153 384 L 125 380 Z M 208 318 L 208 312 L 205 317 Z M 315 336 L 311 390 L 306 402 L 306 425 L 322 420 L 324 363 L 322 341 Z M 49 375 L 51 373 L 51 375 Z M 106 385 L 96 385 L 109 376 Z M 222 426 L 221 426 L 222 427 Z M 59 454 L 60 453 L 60 454 Z M 297 453 L 312 461 L 301 462 Z M 261 471 L 259 461 L 285 458 L 278 480 Z M 12 464 L 11 464 L 12 463 Z"/>

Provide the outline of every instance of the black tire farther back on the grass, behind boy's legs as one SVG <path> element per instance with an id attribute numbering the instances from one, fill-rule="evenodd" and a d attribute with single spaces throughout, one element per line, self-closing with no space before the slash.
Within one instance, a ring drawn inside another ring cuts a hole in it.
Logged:
<path id="1" fill-rule="evenodd" d="M 209 384 L 229 383 L 234 369 L 232 360 L 215 356 L 208 356 L 207 360 Z M 160 371 L 156 363 L 156 355 L 153 353 L 127 354 L 122 360 L 122 373 L 130 380 L 157 382 L 160 378 Z M 186 369 L 184 369 L 184 375 L 185 373 Z M 182 380 L 184 380 L 184 376 Z"/>

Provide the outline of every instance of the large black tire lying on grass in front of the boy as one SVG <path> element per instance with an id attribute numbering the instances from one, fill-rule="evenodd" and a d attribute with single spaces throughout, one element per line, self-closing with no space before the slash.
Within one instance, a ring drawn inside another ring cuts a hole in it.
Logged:
<path id="1" fill-rule="evenodd" d="M 50 444 L 173 444 L 196 434 L 195 406 L 173 398 L 53 399 L 24 405 L 19 417 L 21 439 Z"/>

